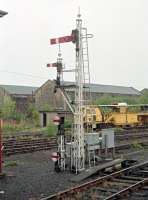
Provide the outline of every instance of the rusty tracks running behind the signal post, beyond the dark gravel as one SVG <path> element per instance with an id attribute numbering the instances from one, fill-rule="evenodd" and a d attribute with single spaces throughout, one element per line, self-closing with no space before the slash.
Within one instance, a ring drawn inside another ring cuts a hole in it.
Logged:
<path id="1" fill-rule="evenodd" d="M 148 134 L 135 134 L 135 135 L 117 135 L 115 137 L 116 150 L 122 150 L 131 147 L 133 141 L 141 145 L 148 144 Z M 7 156 L 13 154 L 28 153 L 40 150 L 49 150 L 57 147 L 56 138 L 25 138 L 25 139 L 9 139 L 3 141 L 4 151 Z"/>

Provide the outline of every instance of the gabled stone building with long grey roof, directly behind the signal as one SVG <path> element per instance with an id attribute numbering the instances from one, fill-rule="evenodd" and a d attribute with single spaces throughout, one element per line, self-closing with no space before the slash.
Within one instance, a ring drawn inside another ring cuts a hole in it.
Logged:
<path id="1" fill-rule="evenodd" d="M 64 85 L 73 85 L 72 82 L 64 82 Z M 95 101 L 102 95 L 111 96 L 139 96 L 141 93 L 133 87 L 113 86 L 91 84 L 92 100 Z M 71 100 L 74 98 L 74 89 L 66 89 Z M 61 112 L 67 113 L 70 116 L 68 106 L 66 105 L 61 93 L 57 90 L 55 93 L 55 81 L 48 80 L 40 88 L 35 91 L 35 105 L 40 112 L 41 125 L 46 126 L 52 121 L 55 114 Z"/>

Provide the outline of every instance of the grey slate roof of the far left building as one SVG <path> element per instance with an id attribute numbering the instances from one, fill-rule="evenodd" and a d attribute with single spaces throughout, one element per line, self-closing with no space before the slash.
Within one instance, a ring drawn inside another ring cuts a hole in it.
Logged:
<path id="1" fill-rule="evenodd" d="M 37 89 L 37 87 L 20 85 L 0 85 L 0 87 L 6 90 L 9 94 L 16 95 L 31 95 Z"/>

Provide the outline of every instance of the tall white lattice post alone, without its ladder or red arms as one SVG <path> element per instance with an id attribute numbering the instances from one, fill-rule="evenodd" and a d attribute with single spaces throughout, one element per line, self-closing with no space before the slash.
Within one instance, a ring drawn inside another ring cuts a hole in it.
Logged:
<path id="1" fill-rule="evenodd" d="M 84 128 L 83 128 L 83 46 L 82 46 L 82 20 L 80 14 L 76 20 L 76 30 L 74 30 L 76 40 L 76 66 L 75 66 L 75 113 L 74 113 L 74 130 L 72 141 L 71 168 L 78 171 L 84 169 L 85 152 L 84 152 Z"/>

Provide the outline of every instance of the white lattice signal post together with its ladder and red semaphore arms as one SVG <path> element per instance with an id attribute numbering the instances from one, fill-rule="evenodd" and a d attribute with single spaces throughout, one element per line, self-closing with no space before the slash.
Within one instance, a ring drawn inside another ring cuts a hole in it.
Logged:
<path id="1" fill-rule="evenodd" d="M 71 170 L 76 173 L 85 169 L 85 149 L 84 149 L 84 127 L 83 127 L 83 106 L 90 100 L 90 73 L 88 59 L 87 29 L 82 27 L 81 15 L 78 14 L 76 19 L 76 29 L 70 36 L 53 38 L 50 40 L 51 45 L 73 42 L 76 46 L 76 64 L 75 64 L 75 100 L 74 100 L 74 125 L 71 139 Z M 59 64 L 61 70 L 59 71 Z M 60 77 L 62 74 L 62 62 L 48 64 L 48 67 L 57 67 L 57 83 L 60 86 Z M 85 94 L 87 93 L 87 95 Z M 66 98 L 65 98 L 66 99 Z M 67 103 L 72 110 L 70 103 Z M 63 141 L 64 142 L 64 141 Z M 60 145 L 60 144 L 59 144 Z M 63 145 L 63 144 L 62 144 Z M 58 148 L 61 149 L 61 148 Z"/>

